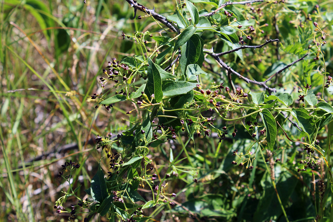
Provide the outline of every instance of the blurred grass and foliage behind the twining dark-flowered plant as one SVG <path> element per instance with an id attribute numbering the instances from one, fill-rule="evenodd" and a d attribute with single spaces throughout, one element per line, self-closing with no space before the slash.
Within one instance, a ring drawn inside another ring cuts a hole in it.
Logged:
<path id="1" fill-rule="evenodd" d="M 209 1 L 192 1 L 204 14 L 214 10 Z M 213 1 L 212 1 L 213 2 Z M 223 3 L 216 1 L 215 4 Z M 174 1 L 140 1 L 164 16 L 174 12 Z M 318 5 L 318 7 L 316 7 Z M 122 40 L 121 31 L 132 35 L 135 31 L 149 30 L 154 36 L 161 35 L 160 26 L 150 17 L 133 19 L 134 11 L 126 1 L 114 0 L 1 0 L 0 1 L 0 220 L 1 221 L 67 221 L 68 215 L 56 214 L 55 200 L 66 191 L 68 184 L 56 178 L 65 161 L 81 164 L 73 181 L 83 185 L 78 196 L 89 187 L 98 162 L 104 152 L 96 150 L 96 135 L 109 132 L 117 135 L 125 131 L 135 116 L 126 115 L 131 103 L 113 107 L 109 112 L 95 109 L 97 102 L 90 99 L 99 92 L 99 78 L 107 61 L 113 57 L 121 60 L 126 56 L 140 55 L 132 39 Z M 285 0 L 277 4 L 266 2 L 244 6 L 227 6 L 242 25 L 254 25 L 249 45 L 259 45 L 265 39 L 280 42 L 262 49 L 243 50 L 223 56 L 234 70 L 258 81 L 281 69 L 306 53 L 302 62 L 279 75 L 271 83 L 278 92 L 288 92 L 297 101 L 298 87 L 307 83 L 315 94 L 323 85 L 323 66 L 314 62 L 315 52 L 308 50 L 312 41 L 320 38 L 313 31 L 316 21 L 327 34 L 332 33 L 332 2 Z M 222 11 L 223 12 L 223 11 Z M 138 15 L 144 16 L 142 12 Z M 209 18 L 211 24 L 220 24 L 223 13 Z M 267 25 L 266 25 L 267 24 Z M 223 29 L 223 28 L 222 28 Z M 233 43 L 218 41 L 222 36 L 203 32 L 205 48 L 214 52 L 238 47 L 239 33 L 224 29 Z M 162 33 L 162 35 L 166 35 Z M 171 35 L 170 35 L 171 36 Z M 152 39 L 147 39 L 152 42 Z M 332 43 L 327 36 L 323 47 L 327 72 L 332 73 Z M 167 64 L 165 64 L 166 66 Z M 202 77 L 202 85 L 212 81 L 227 82 L 225 71 L 213 59 L 206 58 L 205 70 L 209 76 Z M 259 86 L 248 85 L 233 77 L 236 85 L 244 91 L 260 91 Z M 332 101 L 332 90 L 327 89 L 326 101 Z M 213 115 L 206 113 L 206 115 Z M 219 121 L 216 127 L 227 123 Z M 257 144 L 250 139 L 241 123 L 238 133 L 223 143 L 218 138 L 188 139 L 179 134 L 177 141 L 151 148 L 151 158 L 159 174 L 165 174 L 169 150 L 176 153 L 186 146 L 186 155 L 168 180 L 170 193 L 179 193 L 176 206 L 156 207 L 158 217 L 154 221 L 286 221 L 276 197 L 280 194 L 289 221 L 314 221 L 318 209 L 317 192 L 312 176 L 317 182 L 325 178 L 324 171 L 315 169 L 298 173 L 302 160 L 302 146 L 291 143 L 284 136 L 277 138 L 279 148 L 273 150 L 275 159 L 269 164 L 265 159 L 272 153 L 257 152 L 252 171 L 231 164 L 233 151 L 245 152 Z M 320 143 L 326 143 L 327 128 L 320 131 Z M 290 125 L 289 136 L 298 140 L 300 132 Z M 119 149 L 113 147 L 114 152 Z M 258 148 L 261 149 L 260 147 Z M 108 163 L 102 160 L 102 169 L 108 171 Z M 189 172 L 189 173 L 188 173 Z M 192 175 L 198 173 L 198 183 Z M 276 190 L 272 182 L 276 183 Z M 145 197 L 145 190 L 141 189 Z M 317 196 L 315 203 L 314 196 Z M 84 197 L 86 198 L 86 197 Z M 145 197 L 149 198 L 149 197 Z M 70 205 L 71 199 L 67 201 Z M 73 203 L 77 204 L 77 203 Z M 327 206 L 331 198 L 328 197 Z M 69 206 L 67 206 L 69 207 Z M 147 211 L 147 215 L 154 209 Z M 327 212 L 326 212 L 327 211 Z M 330 215 L 326 208 L 325 215 Z M 81 215 L 77 216 L 82 221 Z M 106 218 L 94 218 L 94 221 Z M 153 219 L 152 219 L 153 220 Z M 327 219 L 329 221 L 329 219 Z"/>

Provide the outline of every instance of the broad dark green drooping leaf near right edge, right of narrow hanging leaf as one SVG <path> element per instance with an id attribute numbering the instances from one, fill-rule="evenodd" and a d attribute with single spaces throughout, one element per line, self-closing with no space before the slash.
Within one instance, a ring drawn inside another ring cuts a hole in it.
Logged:
<path id="1" fill-rule="evenodd" d="M 298 126 L 307 133 L 309 140 L 312 142 L 314 133 L 316 132 L 313 116 L 309 116 L 309 112 L 304 108 L 292 108 L 291 115 L 297 120 Z"/>

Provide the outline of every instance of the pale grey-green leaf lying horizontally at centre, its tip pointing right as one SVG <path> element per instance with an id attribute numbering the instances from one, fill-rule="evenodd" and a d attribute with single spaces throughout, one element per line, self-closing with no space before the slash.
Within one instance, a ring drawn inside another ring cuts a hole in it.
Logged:
<path id="1" fill-rule="evenodd" d="M 189 92 L 195 86 L 196 83 L 192 82 L 166 80 L 163 81 L 162 90 L 165 96 L 176 96 Z"/>

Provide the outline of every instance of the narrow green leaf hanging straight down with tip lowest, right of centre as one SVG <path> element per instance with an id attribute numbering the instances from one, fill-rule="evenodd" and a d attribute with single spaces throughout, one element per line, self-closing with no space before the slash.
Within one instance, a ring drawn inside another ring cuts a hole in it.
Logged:
<path id="1" fill-rule="evenodd" d="M 266 141 L 268 147 L 269 149 L 273 149 L 277 133 L 275 119 L 268 109 L 263 109 L 260 112 L 260 116 L 266 128 Z"/>

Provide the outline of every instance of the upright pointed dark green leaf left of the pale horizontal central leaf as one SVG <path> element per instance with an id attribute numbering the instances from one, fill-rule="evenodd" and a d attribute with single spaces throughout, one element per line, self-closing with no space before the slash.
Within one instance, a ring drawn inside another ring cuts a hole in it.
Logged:
<path id="1" fill-rule="evenodd" d="M 162 79 L 160 72 L 156 65 L 153 63 L 153 61 L 148 57 L 148 82 L 146 85 L 145 93 L 148 97 L 151 95 L 155 95 L 155 102 L 159 103 L 162 101 L 163 98 L 163 92 L 162 92 Z"/>

